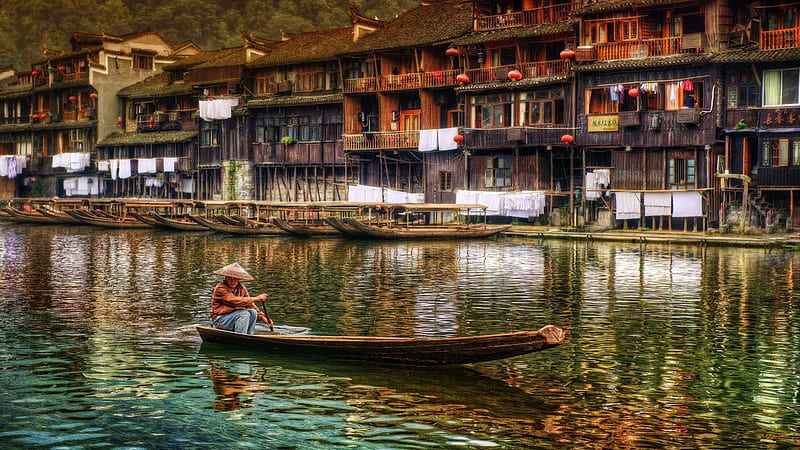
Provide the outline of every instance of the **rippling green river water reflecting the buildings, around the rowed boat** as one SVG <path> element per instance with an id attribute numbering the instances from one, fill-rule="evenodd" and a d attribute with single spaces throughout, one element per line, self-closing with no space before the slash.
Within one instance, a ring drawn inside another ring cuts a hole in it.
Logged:
<path id="1" fill-rule="evenodd" d="M 569 335 L 441 368 L 201 345 L 231 262 L 279 328 Z M 0 224 L 0 305 L 3 448 L 800 445 L 800 253 Z"/>

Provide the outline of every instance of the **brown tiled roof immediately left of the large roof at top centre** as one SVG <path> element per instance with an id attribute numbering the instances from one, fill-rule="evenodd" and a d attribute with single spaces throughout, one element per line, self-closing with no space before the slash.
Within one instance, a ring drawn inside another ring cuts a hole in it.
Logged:
<path id="1" fill-rule="evenodd" d="M 288 64 L 334 60 L 336 55 L 353 42 L 352 28 L 333 28 L 289 35 L 275 44 L 269 54 L 247 65 L 248 68 L 274 67 Z"/>

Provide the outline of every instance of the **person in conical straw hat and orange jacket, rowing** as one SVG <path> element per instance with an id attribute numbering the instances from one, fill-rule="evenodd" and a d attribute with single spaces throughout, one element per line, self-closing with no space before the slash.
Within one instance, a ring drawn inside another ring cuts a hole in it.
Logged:
<path id="1" fill-rule="evenodd" d="M 272 320 L 255 305 L 255 302 L 266 300 L 267 294 L 249 296 L 247 288 L 240 280 L 249 281 L 253 277 L 242 266 L 238 263 L 228 264 L 214 273 L 225 277 L 217 284 L 211 295 L 211 323 L 214 328 L 253 334 L 257 320 L 272 328 Z"/>

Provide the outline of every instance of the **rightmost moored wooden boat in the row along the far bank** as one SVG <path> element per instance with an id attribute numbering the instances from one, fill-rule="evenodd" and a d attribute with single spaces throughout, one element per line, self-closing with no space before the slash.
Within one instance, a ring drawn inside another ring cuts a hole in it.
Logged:
<path id="1" fill-rule="evenodd" d="M 511 225 L 435 225 L 435 226 L 391 226 L 367 225 L 356 219 L 345 217 L 346 225 L 362 235 L 378 239 L 467 239 L 484 238 L 511 228 Z"/>

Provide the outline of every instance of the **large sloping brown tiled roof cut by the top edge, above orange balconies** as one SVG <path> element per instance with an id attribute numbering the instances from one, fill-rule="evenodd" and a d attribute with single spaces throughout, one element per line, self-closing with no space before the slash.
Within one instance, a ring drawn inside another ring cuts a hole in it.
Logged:
<path id="1" fill-rule="evenodd" d="M 459 3 L 450 0 L 421 4 L 359 38 L 340 54 L 411 48 L 460 37 L 472 30 L 472 7 Z"/>

